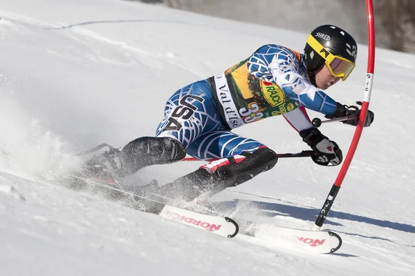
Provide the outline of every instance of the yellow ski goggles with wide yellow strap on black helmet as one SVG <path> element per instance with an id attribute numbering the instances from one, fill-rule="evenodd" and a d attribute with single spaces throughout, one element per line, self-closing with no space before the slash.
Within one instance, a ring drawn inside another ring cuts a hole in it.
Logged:
<path id="1" fill-rule="evenodd" d="M 333 77 L 341 77 L 342 81 L 345 81 L 356 67 L 355 63 L 349 61 L 349 59 L 331 54 L 311 34 L 308 35 L 307 43 L 325 60 L 326 66 Z"/>

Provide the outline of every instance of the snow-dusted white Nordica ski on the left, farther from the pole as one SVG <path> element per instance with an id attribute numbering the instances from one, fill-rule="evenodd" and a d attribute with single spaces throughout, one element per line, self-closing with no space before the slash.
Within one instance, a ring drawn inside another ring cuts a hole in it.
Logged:
<path id="1" fill-rule="evenodd" d="M 237 222 L 230 217 L 207 215 L 193 210 L 170 206 L 161 200 L 150 199 L 122 190 L 119 184 L 108 186 L 101 184 L 98 181 L 84 179 L 83 177 L 77 175 L 70 175 L 69 177 L 75 179 L 76 181 L 84 182 L 84 184 L 91 186 L 92 189 L 100 188 L 107 190 L 107 192 L 111 193 L 111 198 L 116 199 L 117 201 L 123 201 L 124 205 L 134 208 L 135 210 L 140 210 L 145 213 L 153 213 L 165 219 L 171 219 L 178 221 L 181 224 L 208 230 L 210 233 L 215 233 L 223 237 L 235 237 L 239 232 Z"/>

